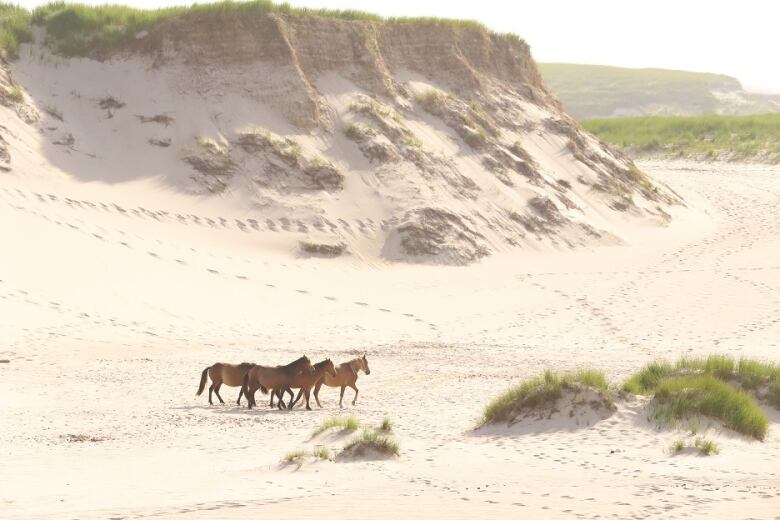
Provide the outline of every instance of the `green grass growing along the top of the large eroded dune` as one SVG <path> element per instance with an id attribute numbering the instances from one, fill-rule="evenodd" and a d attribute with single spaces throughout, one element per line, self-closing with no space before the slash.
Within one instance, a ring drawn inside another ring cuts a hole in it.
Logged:
<path id="1" fill-rule="evenodd" d="M 479 22 L 446 18 L 383 18 L 359 10 L 311 9 L 292 7 L 287 3 L 269 0 L 245 2 L 223 1 L 191 6 L 173 6 L 159 9 L 137 9 L 125 5 L 86 5 L 51 2 L 32 12 L 10 4 L 0 4 L 0 49 L 15 56 L 20 43 L 30 41 L 31 25 L 46 28 L 48 44 L 66 56 L 83 56 L 92 51 L 105 51 L 132 41 L 141 31 L 178 16 L 224 17 L 235 19 L 275 13 L 287 16 L 319 16 L 340 20 L 361 20 L 394 24 L 446 26 L 456 29 L 494 34 L 497 37 L 520 42 L 513 34 L 497 34 Z"/>

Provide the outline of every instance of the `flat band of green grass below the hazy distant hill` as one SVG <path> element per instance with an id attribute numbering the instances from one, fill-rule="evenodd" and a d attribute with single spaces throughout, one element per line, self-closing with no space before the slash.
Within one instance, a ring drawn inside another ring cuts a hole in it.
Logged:
<path id="1" fill-rule="evenodd" d="M 590 119 L 582 126 L 629 154 L 780 163 L 780 114 Z"/>

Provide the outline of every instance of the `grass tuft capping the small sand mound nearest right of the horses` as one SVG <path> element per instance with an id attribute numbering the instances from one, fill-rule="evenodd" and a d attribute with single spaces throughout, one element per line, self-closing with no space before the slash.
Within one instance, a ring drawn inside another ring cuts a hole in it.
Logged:
<path id="1" fill-rule="evenodd" d="M 600 370 L 585 369 L 564 374 L 546 370 L 541 376 L 528 379 L 491 401 L 485 407 L 479 424 L 508 422 L 523 410 L 552 404 L 561 397 L 566 387 L 574 384 L 608 395 L 609 385 Z"/>

